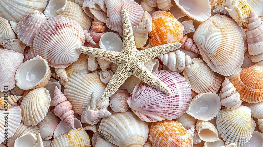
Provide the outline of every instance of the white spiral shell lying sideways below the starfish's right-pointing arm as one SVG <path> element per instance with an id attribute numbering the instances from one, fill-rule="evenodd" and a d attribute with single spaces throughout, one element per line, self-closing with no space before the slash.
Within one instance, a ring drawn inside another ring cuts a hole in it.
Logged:
<path id="1" fill-rule="evenodd" d="M 190 65 L 194 64 L 190 56 L 185 55 L 185 53 L 180 50 L 171 51 L 168 54 L 158 56 L 158 58 L 163 62 L 163 65 L 168 66 L 169 70 L 172 71 L 184 70 L 185 68 L 189 69 Z"/>

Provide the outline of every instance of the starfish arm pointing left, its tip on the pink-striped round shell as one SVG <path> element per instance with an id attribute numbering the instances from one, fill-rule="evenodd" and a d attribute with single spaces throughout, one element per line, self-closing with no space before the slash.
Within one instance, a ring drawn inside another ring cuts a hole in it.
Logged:
<path id="1" fill-rule="evenodd" d="M 99 59 L 103 59 L 109 62 L 113 62 L 115 64 L 118 64 L 119 61 L 125 59 L 125 57 L 122 55 L 121 52 L 117 51 L 111 51 L 111 50 L 105 50 L 105 49 L 97 49 L 87 46 L 81 46 L 76 48 L 77 51 L 83 54 L 92 55 L 94 57 L 97 57 Z"/>

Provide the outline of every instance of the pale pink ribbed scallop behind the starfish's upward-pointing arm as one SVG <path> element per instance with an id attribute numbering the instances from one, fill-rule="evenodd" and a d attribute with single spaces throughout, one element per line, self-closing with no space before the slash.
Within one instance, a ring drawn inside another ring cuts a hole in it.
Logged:
<path id="1" fill-rule="evenodd" d="M 139 26 L 143 17 L 143 8 L 133 0 L 105 0 L 107 7 L 106 25 L 109 29 L 117 31 L 122 35 L 123 25 L 120 8 L 124 8 L 130 18 L 131 27 Z"/>

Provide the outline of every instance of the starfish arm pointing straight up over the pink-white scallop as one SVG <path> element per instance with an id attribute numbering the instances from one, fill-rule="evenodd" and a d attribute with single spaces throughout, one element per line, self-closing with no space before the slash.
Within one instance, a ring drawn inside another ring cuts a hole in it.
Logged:
<path id="1" fill-rule="evenodd" d="M 123 50 L 122 52 L 125 55 L 132 54 L 133 51 L 137 51 L 133 36 L 133 30 L 131 27 L 130 19 L 128 17 L 128 14 L 124 8 L 120 9 L 120 12 L 122 14 L 122 25 L 123 25 Z"/>

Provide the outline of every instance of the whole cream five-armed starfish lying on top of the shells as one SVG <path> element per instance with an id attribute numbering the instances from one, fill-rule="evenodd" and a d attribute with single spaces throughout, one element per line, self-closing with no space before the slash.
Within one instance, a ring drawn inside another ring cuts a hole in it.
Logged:
<path id="1" fill-rule="evenodd" d="M 76 48 L 80 53 L 92 55 L 118 65 L 115 74 L 109 81 L 98 102 L 101 103 L 112 96 L 131 75 L 138 77 L 140 80 L 157 90 L 171 95 L 171 90 L 148 71 L 144 66 L 144 63 L 157 56 L 180 48 L 181 43 L 168 43 L 138 51 L 135 46 L 131 23 L 124 8 L 121 8 L 121 15 L 123 23 L 123 49 L 121 52 L 85 46 Z"/>

